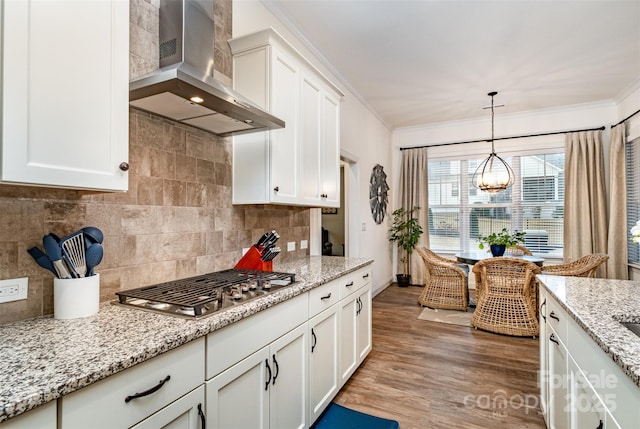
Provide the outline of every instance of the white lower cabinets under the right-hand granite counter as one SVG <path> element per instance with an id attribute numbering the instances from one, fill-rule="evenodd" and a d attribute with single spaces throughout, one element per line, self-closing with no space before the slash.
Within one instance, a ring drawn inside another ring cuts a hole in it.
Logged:
<path id="1" fill-rule="evenodd" d="M 540 289 L 540 397 L 550 429 L 635 429 L 640 389 Z"/>

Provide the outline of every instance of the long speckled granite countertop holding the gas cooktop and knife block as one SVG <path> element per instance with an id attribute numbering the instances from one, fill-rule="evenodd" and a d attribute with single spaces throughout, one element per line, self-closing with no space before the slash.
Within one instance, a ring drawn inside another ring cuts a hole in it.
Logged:
<path id="1" fill-rule="evenodd" d="M 275 262 L 274 271 L 295 273 L 296 283 L 199 320 L 105 302 L 95 316 L 0 325 L 0 422 L 372 262 L 331 256 Z"/>

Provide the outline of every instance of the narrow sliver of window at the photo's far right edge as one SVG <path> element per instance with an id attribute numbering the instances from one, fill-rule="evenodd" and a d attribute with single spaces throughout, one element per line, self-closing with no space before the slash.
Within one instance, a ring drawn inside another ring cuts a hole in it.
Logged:
<path id="1" fill-rule="evenodd" d="M 629 230 L 640 219 L 640 138 L 627 143 L 626 151 L 626 174 L 627 174 L 627 251 L 629 262 L 640 262 L 640 247 L 631 241 Z"/>

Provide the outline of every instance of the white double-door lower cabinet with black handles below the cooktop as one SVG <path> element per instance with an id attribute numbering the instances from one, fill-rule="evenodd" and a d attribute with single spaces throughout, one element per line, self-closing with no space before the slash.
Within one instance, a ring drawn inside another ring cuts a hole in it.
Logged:
<path id="1" fill-rule="evenodd" d="M 207 427 L 305 428 L 307 326 L 207 381 Z"/>

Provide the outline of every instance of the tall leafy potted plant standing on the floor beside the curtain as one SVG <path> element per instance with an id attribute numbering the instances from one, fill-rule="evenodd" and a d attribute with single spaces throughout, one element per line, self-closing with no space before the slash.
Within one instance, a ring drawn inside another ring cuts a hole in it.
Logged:
<path id="1" fill-rule="evenodd" d="M 395 210 L 391 216 L 393 217 L 393 223 L 389 232 L 391 233 L 389 241 L 397 242 L 398 247 L 404 250 L 404 255 L 400 260 L 404 267 L 403 274 L 396 274 L 398 286 L 409 286 L 411 284 L 411 275 L 409 274 L 409 258 L 413 253 L 413 250 L 418 245 L 418 240 L 422 235 L 422 226 L 418 222 L 418 218 L 414 217 L 414 214 L 420 209 L 420 207 L 414 207 L 410 210 L 399 208 Z"/>

